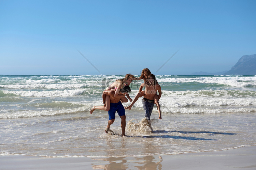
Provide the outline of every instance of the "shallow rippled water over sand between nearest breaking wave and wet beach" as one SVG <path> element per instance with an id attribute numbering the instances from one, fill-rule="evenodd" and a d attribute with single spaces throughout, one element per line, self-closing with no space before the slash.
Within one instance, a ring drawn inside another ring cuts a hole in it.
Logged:
<path id="1" fill-rule="evenodd" d="M 104 128 L 108 115 L 96 112 L 93 115 L 85 113 L 79 120 L 80 114 L 72 118 L 60 115 L 2 120 L 1 154 L 117 157 L 216 151 L 255 145 L 255 113 L 176 114 L 178 119 L 163 114 L 162 120 L 158 123 L 155 120 L 152 124 L 153 132 L 148 128 L 127 128 L 127 137 L 121 137 L 106 135 Z M 133 117 L 143 115 L 127 111 L 127 120 Z M 157 118 L 157 112 L 152 117 Z M 116 118 L 111 129 L 121 133 L 120 118 Z"/>

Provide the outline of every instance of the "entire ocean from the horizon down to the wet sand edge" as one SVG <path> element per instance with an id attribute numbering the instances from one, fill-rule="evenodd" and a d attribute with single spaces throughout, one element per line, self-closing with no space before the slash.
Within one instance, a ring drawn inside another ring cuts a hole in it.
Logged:
<path id="1" fill-rule="evenodd" d="M 127 137 L 120 136 L 117 114 L 109 135 L 108 112 L 89 112 L 103 105 L 106 86 L 123 77 L 0 75 L 0 155 L 109 158 L 256 145 L 255 75 L 156 75 L 162 120 L 154 106 L 145 124 L 139 98 L 126 110 Z M 132 99 L 141 83 L 130 84 Z"/>

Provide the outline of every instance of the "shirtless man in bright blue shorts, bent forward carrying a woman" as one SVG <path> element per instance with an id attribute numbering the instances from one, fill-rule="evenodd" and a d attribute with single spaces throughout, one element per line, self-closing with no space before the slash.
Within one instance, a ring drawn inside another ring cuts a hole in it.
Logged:
<path id="1" fill-rule="evenodd" d="M 125 86 L 123 89 L 118 90 L 117 96 L 114 96 L 116 93 L 117 89 L 112 89 L 108 91 L 103 91 L 102 98 L 103 98 L 103 104 L 105 105 L 105 98 L 110 97 L 110 107 L 107 108 L 109 112 L 109 121 L 108 121 L 108 126 L 105 128 L 105 133 L 109 132 L 110 125 L 112 125 L 115 121 L 115 113 L 117 111 L 119 117 L 121 118 L 121 128 L 122 128 L 122 136 L 125 136 L 125 126 L 126 126 L 126 116 L 125 116 L 125 108 L 122 105 L 120 99 L 124 97 L 126 94 L 131 92 L 131 89 L 129 86 Z M 108 96 L 106 96 L 108 95 Z M 98 106 L 100 107 L 100 106 Z M 102 106 L 104 107 L 104 106 Z M 93 113 L 95 109 L 100 109 L 96 108 L 95 106 L 90 110 L 90 113 Z M 100 109 L 104 110 L 104 109 Z"/>

